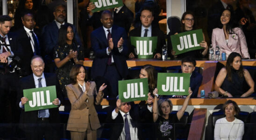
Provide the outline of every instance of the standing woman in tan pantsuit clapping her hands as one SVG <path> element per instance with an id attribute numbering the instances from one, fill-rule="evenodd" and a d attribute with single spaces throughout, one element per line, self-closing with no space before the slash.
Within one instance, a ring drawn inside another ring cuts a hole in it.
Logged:
<path id="1" fill-rule="evenodd" d="M 97 129 L 100 127 L 94 104 L 100 105 L 103 90 L 107 85 L 102 84 L 99 93 L 95 82 L 85 82 L 85 69 L 82 65 L 75 65 L 70 72 L 71 84 L 66 86 L 67 95 L 71 103 L 67 130 L 71 133 L 71 140 L 96 140 Z"/>

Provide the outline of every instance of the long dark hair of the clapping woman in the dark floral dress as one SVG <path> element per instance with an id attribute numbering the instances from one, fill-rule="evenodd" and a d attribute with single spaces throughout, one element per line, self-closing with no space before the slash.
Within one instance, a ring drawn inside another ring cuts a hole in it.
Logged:
<path id="1" fill-rule="evenodd" d="M 64 47 L 66 44 L 68 27 L 71 27 L 74 32 L 74 28 L 68 23 L 62 25 L 61 28 L 59 29 L 58 45 L 60 45 L 61 47 Z M 77 44 L 75 41 L 75 33 L 74 33 L 72 43 Z"/>

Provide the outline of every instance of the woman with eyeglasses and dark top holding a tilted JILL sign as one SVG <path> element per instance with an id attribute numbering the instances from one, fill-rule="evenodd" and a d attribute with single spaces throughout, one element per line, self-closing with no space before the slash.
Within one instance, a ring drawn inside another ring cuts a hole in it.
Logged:
<path id="1" fill-rule="evenodd" d="M 185 12 L 182 14 L 181 17 L 181 32 L 186 32 L 186 31 L 191 31 L 196 29 L 195 27 L 195 19 L 194 19 L 194 14 L 192 12 Z M 178 33 L 176 33 L 178 34 Z M 175 34 L 175 35 L 176 35 Z M 207 42 L 205 41 L 205 35 L 203 34 L 204 41 L 200 42 L 199 45 L 203 47 L 204 49 L 197 49 L 197 50 L 192 50 L 183 54 L 175 55 L 175 51 L 171 50 L 171 54 L 173 55 L 174 58 L 184 58 L 185 56 L 192 56 L 194 58 L 202 58 L 206 56 L 208 52 L 208 45 Z M 172 47 L 171 47 L 172 48 Z"/>

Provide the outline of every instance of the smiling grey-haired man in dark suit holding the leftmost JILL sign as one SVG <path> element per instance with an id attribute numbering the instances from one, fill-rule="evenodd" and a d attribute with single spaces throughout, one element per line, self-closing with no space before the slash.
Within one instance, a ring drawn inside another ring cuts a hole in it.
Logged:
<path id="1" fill-rule="evenodd" d="M 28 98 L 23 96 L 23 90 L 38 87 L 57 85 L 55 74 L 43 73 L 44 62 L 41 56 L 33 56 L 31 59 L 31 69 L 33 74 L 23 77 L 20 80 L 18 89 L 17 104 L 21 108 L 20 127 L 25 131 L 27 140 L 59 140 L 59 111 L 57 108 L 50 108 L 39 111 L 24 111 L 24 104 Z M 57 97 L 58 97 L 58 86 Z M 52 102 L 60 105 L 58 98 Z"/>

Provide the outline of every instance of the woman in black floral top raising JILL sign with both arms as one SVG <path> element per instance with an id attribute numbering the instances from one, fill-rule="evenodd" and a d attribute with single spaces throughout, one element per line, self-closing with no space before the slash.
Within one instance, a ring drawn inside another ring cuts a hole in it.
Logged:
<path id="1" fill-rule="evenodd" d="M 187 105 L 188 101 L 190 99 L 190 96 L 192 95 L 192 91 L 189 87 L 188 93 L 189 95 L 186 97 L 182 108 L 177 112 L 175 115 L 171 115 L 172 111 L 172 103 L 171 100 L 168 98 L 160 98 L 157 101 L 157 94 L 158 90 L 155 89 L 153 91 L 153 94 L 155 95 L 154 98 L 154 103 L 153 103 L 153 120 L 155 123 L 159 124 L 156 129 L 156 138 L 159 140 L 175 140 L 174 139 L 174 128 L 171 125 L 172 123 L 177 123 L 183 116 Z M 148 94 L 149 98 L 153 98 Z"/>

